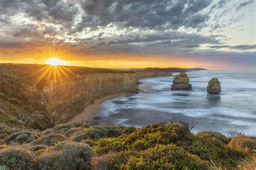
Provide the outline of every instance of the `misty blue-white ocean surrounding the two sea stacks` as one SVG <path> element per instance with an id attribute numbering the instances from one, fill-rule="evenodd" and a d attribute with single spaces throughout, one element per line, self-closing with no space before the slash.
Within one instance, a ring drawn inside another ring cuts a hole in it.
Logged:
<path id="1" fill-rule="evenodd" d="M 178 74 L 178 73 L 173 73 Z M 256 135 L 256 71 L 187 72 L 192 91 L 171 91 L 173 77 L 140 79 L 142 92 L 102 103 L 92 125 L 141 127 L 153 123 L 196 123 L 193 132 L 235 130 Z M 218 78 L 220 94 L 208 94 L 208 80 Z"/>

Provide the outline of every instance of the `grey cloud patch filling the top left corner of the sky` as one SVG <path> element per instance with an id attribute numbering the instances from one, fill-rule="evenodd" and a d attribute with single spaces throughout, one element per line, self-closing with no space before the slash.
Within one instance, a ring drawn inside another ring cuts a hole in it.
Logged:
<path id="1" fill-rule="evenodd" d="M 74 3 L 65 3 L 62 0 L 1 0 L 0 13 L 14 16 L 20 12 L 25 12 L 37 21 L 62 24 L 64 28 L 70 28 L 78 8 Z"/>

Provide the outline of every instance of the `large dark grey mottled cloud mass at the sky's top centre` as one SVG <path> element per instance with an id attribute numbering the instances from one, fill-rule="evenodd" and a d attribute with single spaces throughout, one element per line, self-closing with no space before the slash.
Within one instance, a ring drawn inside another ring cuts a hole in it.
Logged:
<path id="1" fill-rule="evenodd" d="M 85 14 L 76 30 L 96 29 L 97 26 L 106 26 L 111 23 L 120 28 L 132 26 L 155 30 L 176 30 L 186 26 L 200 29 L 209 18 L 207 14 L 200 11 L 210 3 L 210 0 L 82 1 L 81 6 Z"/>

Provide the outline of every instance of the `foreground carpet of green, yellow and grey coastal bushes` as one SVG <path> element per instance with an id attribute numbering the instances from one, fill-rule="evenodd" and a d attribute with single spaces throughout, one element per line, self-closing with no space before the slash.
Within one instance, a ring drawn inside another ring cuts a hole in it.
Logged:
<path id="1" fill-rule="evenodd" d="M 227 137 L 212 131 L 194 134 L 192 127 L 183 122 L 141 128 L 59 124 L 42 132 L 21 131 L 2 141 L 0 165 L 2 169 L 246 169 L 255 166 L 255 137 L 239 133 Z M 34 140 L 28 142 L 30 135 Z"/>

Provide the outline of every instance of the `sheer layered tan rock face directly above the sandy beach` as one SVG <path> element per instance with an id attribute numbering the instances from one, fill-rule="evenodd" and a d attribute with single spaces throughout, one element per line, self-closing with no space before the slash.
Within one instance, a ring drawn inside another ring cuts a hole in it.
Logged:
<path id="1" fill-rule="evenodd" d="M 136 73 L 77 75 L 65 83 L 44 87 L 46 110 L 55 115 L 55 123 L 64 123 L 82 112 L 96 98 L 120 92 L 138 91 Z"/>

